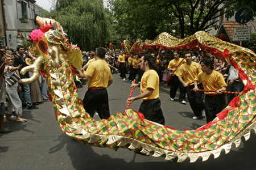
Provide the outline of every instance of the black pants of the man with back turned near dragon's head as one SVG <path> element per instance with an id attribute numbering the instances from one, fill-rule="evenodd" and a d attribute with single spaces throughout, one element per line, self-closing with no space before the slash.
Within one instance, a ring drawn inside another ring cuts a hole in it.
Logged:
<path id="1" fill-rule="evenodd" d="M 86 91 L 82 103 L 90 117 L 93 117 L 96 111 L 101 119 L 108 119 L 110 117 L 109 97 L 106 88 Z"/>

